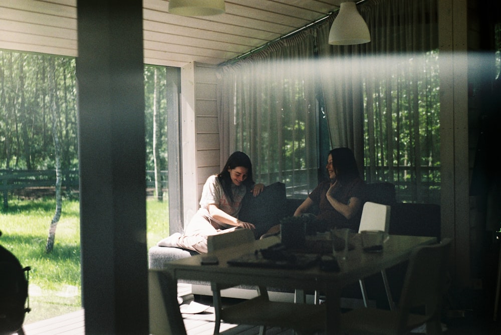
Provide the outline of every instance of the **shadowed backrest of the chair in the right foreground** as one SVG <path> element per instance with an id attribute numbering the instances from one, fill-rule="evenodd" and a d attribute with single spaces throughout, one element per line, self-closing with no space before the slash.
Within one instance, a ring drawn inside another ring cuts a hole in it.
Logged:
<path id="1" fill-rule="evenodd" d="M 399 329 L 406 329 L 408 315 L 415 308 L 423 308 L 427 319 L 439 317 L 441 300 L 446 286 L 450 238 L 440 243 L 414 250 L 404 279 L 398 304 Z"/>

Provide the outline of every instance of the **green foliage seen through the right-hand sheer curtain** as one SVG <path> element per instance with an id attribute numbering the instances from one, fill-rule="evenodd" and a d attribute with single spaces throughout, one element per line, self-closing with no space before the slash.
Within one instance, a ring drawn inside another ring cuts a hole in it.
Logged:
<path id="1" fill-rule="evenodd" d="M 438 60 L 436 50 L 376 59 L 364 78 L 366 178 L 394 182 L 401 200 L 439 201 Z"/>

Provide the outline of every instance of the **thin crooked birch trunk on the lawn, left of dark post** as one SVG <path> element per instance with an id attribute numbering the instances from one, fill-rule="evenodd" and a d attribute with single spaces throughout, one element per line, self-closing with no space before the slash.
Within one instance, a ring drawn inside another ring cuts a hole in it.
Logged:
<path id="1" fill-rule="evenodd" d="M 49 237 L 47 238 L 47 244 L 45 246 L 45 251 L 51 252 L 54 248 L 54 240 L 56 239 L 56 227 L 58 225 L 59 219 L 61 218 L 62 209 L 62 197 L 61 197 L 61 145 L 59 143 L 59 136 L 57 132 L 59 107 L 57 104 L 57 84 L 55 78 L 56 65 L 54 59 L 49 60 L 49 101 L 52 116 L 52 136 L 54 138 L 54 148 L 55 148 L 55 158 L 56 158 L 56 212 L 51 221 L 51 226 L 49 228 Z"/>

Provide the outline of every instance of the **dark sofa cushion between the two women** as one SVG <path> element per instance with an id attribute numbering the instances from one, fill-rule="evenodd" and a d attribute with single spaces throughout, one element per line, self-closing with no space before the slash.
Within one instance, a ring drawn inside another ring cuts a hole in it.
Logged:
<path id="1" fill-rule="evenodd" d="M 280 223 L 286 216 L 285 184 L 276 182 L 265 187 L 257 197 L 247 193 L 242 200 L 238 218 L 256 226 L 256 238 Z"/>

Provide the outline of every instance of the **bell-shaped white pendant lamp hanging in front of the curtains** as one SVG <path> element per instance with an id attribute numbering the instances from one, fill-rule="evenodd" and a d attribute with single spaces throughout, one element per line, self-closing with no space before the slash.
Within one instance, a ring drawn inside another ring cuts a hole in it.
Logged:
<path id="1" fill-rule="evenodd" d="M 341 3 L 338 16 L 332 23 L 329 44 L 351 45 L 371 42 L 369 28 L 358 13 L 354 2 Z"/>

